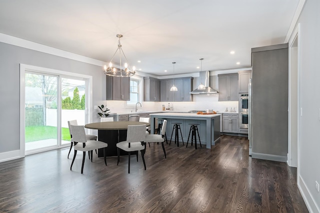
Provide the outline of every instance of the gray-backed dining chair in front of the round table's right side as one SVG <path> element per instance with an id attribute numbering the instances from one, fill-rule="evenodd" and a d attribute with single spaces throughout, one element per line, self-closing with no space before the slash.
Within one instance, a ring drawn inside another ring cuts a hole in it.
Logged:
<path id="1" fill-rule="evenodd" d="M 146 125 L 128 125 L 127 129 L 127 135 L 126 135 L 126 141 L 122 141 L 116 144 L 117 148 L 117 154 L 118 154 L 118 161 L 117 164 L 119 164 L 120 161 L 120 149 L 128 153 L 128 173 L 130 173 L 130 153 L 136 152 L 136 161 L 138 161 L 138 155 L 137 152 L 141 151 L 141 157 L 144 165 L 144 170 L 146 170 L 145 167 L 145 161 L 144 161 L 144 153 L 145 153 L 145 128 Z"/>

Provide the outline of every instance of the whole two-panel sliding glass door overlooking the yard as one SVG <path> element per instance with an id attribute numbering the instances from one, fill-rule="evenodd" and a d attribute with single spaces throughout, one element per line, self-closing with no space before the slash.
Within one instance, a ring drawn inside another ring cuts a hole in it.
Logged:
<path id="1" fill-rule="evenodd" d="M 68 146 L 67 121 L 85 124 L 85 79 L 25 72 L 24 82 L 25 154 Z"/>

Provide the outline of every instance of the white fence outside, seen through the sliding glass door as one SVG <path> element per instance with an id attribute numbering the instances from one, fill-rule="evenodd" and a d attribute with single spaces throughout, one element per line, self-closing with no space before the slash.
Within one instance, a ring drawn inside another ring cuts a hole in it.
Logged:
<path id="1" fill-rule="evenodd" d="M 56 127 L 57 110 L 46 109 L 46 125 Z M 78 125 L 84 125 L 85 112 L 77 109 L 62 109 L 61 110 L 61 126 L 68 128 L 68 121 L 76 120 Z"/>

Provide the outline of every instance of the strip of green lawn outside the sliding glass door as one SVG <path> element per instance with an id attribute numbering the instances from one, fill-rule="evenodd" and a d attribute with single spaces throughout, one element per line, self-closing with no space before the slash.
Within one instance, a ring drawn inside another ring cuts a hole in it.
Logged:
<path id="1" fill-rule="evenodd" d="M 25 143 L 45 139 L 56 139 L 56 132 L 56 127 L 51 126 L 25 127 Z M 70 141 L 70 133 L 68 128 L 62 128 L 62 140 Z"/>

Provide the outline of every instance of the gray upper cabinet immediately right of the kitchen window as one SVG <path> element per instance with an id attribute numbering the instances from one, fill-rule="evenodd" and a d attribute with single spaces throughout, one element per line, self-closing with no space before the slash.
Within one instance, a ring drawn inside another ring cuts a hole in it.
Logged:
<path id="1" fill-rule="evenodd" d="M 144 77 L 144 101 L 160 101 L 159 80 L 152 77 Z"/>

